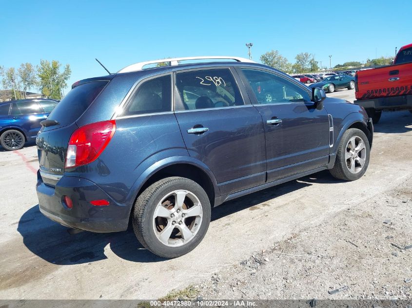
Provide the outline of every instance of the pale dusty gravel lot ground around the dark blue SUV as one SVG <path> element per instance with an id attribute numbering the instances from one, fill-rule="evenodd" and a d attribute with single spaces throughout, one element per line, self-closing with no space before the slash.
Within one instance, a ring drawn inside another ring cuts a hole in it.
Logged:
<path id="1" fill-rule="evenodd" d="M 0 298 L 410 299 L 411 153 L 411 113 L 385 112 L 362 179 L 320 172 L 227 202 L 193 252 L 164 260 L 132 230 L 70 235 L 43 217 L 35 146 L 0 148 Z"/>

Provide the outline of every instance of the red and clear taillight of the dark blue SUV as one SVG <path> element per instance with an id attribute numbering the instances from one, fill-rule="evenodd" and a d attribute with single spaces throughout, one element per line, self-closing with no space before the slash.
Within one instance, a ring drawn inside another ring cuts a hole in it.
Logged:
<path id="1" fill-rule="evenodd" d="M 97 122 L 76 129 L 67 146 L 66 168 L 95 161 L 116 131 L 116 121 Z"/>

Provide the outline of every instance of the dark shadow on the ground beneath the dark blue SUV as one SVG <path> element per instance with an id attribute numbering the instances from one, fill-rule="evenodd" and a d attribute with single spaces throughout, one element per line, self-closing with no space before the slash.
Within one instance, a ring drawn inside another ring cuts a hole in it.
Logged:
<path id="1" fill-rule="evenodd" d="M 250 208 L 262 202 L 288 194 L 312 185 L 309 182 L 336 182 L 327 173 L 317 173 L 310 178 L 287 182 L 245 197 L 224 203 L 212 210 L 212 221 Z M 110 257 L 111 252 L 132 262 L 159 262 L 165 260 L 146 250 L 138 241 L 133 228 L 116 233 L 80 232 L 69 234 L 69 228 L 61 226 L 39 211 L 35 205 L 21 217 L 17 231 L 23 237 L 24 245 L 47 262 L 58 265 L 72 265 L 95 262 Z M 105 253 L 110 245 L 111 252 Z"/>

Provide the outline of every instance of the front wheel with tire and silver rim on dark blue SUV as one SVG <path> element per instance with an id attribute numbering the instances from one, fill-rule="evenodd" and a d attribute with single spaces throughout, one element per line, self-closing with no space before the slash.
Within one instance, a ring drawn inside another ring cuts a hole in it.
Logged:
<path id="1" fill-rule="evenodd" d="M 336 152 L 332 176 L 345 181 L 360 179 L 369 165 L 370 146 L 365 133 L 350 128 L 342 136 Z"/>

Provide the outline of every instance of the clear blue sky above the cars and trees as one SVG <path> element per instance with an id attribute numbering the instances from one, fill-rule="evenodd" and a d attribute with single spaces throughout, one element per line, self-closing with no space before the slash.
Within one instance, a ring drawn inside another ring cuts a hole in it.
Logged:
<path id="1" fill-rule="evenodd" d="M 252 57 L 272 49 L 322 66 L 393 56 L 412 43 L 411 0 L 0 0 L 0 65 L 70 64 L 74 82 L 140 61 L 195 55 Z M 62 66 L 63 68 L 63 66 Z M 39 91 L 39 89 L 32 89 Z"/>

